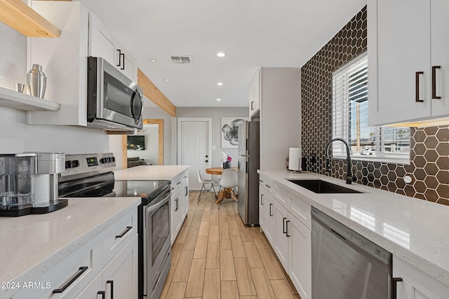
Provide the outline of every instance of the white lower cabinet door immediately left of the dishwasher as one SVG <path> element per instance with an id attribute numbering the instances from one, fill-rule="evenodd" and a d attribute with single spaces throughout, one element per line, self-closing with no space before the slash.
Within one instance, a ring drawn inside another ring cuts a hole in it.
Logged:
<path id="1" fill-rule="evenodd" d="M 302 299 L 311 298 L 311 230 L 288 213 L 288 275 Z"/>

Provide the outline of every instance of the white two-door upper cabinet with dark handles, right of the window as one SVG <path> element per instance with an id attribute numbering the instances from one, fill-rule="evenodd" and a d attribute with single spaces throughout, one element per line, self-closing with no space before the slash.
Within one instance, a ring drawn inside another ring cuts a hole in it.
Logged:
<path id="1" fill-rule="evenodd" d="M 443 76 L 448 69 L 448 13 L 445 0 L 368 0 L 370 125 L 449 113 L 444 97 L 448 79 Z"/>

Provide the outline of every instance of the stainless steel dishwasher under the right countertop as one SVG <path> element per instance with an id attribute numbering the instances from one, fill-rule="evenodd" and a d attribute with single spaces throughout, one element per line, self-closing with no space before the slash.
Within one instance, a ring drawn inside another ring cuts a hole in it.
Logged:
<path id="1" fill-rule="evenodd" d="M 389 251 L 314 207 L 311 215 L 311 298 L 387 299 L 396 293 Z"/>

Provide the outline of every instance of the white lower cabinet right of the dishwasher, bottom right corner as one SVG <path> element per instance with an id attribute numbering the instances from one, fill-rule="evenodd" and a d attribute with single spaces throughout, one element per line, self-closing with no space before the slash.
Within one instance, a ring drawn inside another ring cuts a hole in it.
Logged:
<path id="1" fill-rule="evenodd" d="M 396 282 L 397 299 L 448 298 L 448 286 L 397 256 L 393 256 L 393 277 L 402 279 Z"/>

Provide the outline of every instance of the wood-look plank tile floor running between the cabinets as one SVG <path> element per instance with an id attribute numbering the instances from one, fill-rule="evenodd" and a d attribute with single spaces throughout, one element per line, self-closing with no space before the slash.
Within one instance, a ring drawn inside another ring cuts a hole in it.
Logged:
<path id="1" fill-rule="evenodd" d="M 299 299 L 259 227 L 243 225 L 234 200 L 189 194 L 162 299 Z"/>

